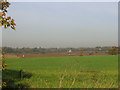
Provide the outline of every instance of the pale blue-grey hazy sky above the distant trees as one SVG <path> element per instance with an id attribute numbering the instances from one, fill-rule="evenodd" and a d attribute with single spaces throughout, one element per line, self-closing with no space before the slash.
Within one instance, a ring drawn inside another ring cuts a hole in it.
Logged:
<path id="1" fill-rule="evenodd" d="M 2 31 L 2 46 L 79 48 L 118 45 L 117 2 L 12 2 L 16 31 Z"/>

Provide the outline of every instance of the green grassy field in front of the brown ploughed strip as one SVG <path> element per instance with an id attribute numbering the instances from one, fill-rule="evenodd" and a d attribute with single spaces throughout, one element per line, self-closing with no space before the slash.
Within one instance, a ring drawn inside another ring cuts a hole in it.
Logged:
<path id="1" fill-rule="evenodd" d="M 114 55 L 20 58 L 6 63 L 7 87 L 118 88 L 118 56 Z"/>

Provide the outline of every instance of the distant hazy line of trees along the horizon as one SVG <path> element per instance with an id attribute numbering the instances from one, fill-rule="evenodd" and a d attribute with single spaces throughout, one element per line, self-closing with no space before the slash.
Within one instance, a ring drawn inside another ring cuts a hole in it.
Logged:
<path id="1" fill-rule="evenodd" d="M 72 52 L 80 52 L 81 49 L 83 51 L 104 51 L 108 52 L 110 55 L 116 55 L 118 54 L 118 47 L 95 47 L 95 48 L 12 48 L 12 47 L 3 47 L 2 51 L 9 54 L 23 54 L 23 53 L 66 53 L 69 50 L 72 50 Z"/>

